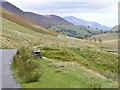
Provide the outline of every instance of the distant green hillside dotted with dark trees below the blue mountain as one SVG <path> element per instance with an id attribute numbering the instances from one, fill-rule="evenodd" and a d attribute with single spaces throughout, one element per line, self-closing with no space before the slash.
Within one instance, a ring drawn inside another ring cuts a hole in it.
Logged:
<path id="1" fill-rule="evenodd" d="M 53 25 L 49 26 L 48 29 L 53 30 L 55 32 L 60 32 L 67 34 L 68 36 L 72 37 L 80 37 L 80 36 L 91 36 L 100 34 L 101 30 L 91 28 L 91 27 L 84 27 L 84 26 L 74 26 L 74 25 Z"/>

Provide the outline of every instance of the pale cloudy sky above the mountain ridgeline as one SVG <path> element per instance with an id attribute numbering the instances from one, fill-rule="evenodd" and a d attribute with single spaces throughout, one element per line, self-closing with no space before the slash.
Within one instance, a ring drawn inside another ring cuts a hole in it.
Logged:
<path id="1" fill-rule="evenodd" d="M 7 0 L 23 11 L 74 16 L 114 27 L 118 24 L 119 0 Z"/>

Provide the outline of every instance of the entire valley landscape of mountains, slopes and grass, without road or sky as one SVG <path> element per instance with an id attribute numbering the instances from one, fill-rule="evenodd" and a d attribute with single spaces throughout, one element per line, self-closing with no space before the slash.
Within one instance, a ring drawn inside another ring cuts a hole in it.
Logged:
<path id="1" fill-rule="evenodd" d="M 0 49 L 17 49 L 11 68 L 20 87 L 118 88 L 118 26 L 75 25 L 2 3 Z"/>

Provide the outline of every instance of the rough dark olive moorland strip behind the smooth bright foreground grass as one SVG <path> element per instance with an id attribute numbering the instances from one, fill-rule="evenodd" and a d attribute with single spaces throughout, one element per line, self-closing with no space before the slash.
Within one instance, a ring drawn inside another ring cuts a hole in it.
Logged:
<path id="1" fill-rule="evenodd" d="M 43 56 L 62 61 L 77 61 L 79 64 L 92 69 L 107 78 L 117 81 L 118 56 L 93 50 L 67 48 L 67 47 L 42 47 Z"/>

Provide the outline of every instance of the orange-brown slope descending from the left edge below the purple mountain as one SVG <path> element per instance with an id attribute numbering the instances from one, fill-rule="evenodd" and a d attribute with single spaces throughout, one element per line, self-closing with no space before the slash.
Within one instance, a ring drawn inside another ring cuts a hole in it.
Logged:
<path id="1" fill-rule="evenodd" d="M 27 27 L 27 28 L 30 28 L 32 30 L 35 30 L 37 32 L 40 32 L 40 33 L 47 33 L 47 34 L 51 34 L 51 35 L 56 35 L 55 32 L 52 32 L 52 31 L 48 31 L 32 22 L 29 22 L 28 20 L 12 13 L 12 12 L 9 12 L 7 11 L 6 9 L 2 8 L 2 16 L 3 18 L 6 18 L 12 22 L 15 22 L 19 25 L 22 25 L 24 27 Z"/>

